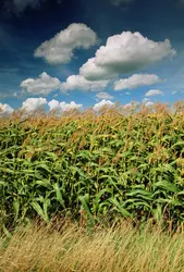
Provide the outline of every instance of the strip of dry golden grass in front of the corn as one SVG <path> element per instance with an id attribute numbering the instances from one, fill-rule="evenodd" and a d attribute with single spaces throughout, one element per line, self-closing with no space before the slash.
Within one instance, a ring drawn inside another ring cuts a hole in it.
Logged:
<path id="1" fill-rule="evenodd" d="M 171 236 L 159 228 L 140 233 L 122 224 L 87 233 L 71 223 L 60 232 L 34 225 L 0 243 L 0 271 L 4 272 L 184 271 L 184 235 Z"/>

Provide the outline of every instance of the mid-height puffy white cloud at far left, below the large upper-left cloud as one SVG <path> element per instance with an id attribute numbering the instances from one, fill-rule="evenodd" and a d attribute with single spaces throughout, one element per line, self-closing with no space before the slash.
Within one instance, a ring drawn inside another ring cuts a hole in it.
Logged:
<path id="1" fill-rule="evenodd" d="M 48 95 L 52 90 L 60 89 L 61 82 L 57 77 L 51 77 L 42 73 L 38 78 L 27 78 L 21 83 L 21 87 L 32 95 Z"/>

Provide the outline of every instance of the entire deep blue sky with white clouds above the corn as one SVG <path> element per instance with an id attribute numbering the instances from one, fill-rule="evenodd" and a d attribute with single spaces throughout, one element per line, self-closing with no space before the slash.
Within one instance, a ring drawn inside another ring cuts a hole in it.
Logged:
<path id="1" fill-rule="evenodd" d="M 71 101 L 84 109 L 132 100 L 172 103 L 184 96 L 183 63 L 183 0 L 0 2 L 4 113 L 65 109 Z"/>

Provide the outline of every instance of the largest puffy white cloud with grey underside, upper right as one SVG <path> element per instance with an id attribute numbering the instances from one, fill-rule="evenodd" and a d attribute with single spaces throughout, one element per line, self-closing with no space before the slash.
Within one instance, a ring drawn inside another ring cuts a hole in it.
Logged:
<path id="1" fill-rule="evenodd" d="M 111 79 L 145 69 L 175 53 L 169 39 L 157 42 L 140 33 L 123 32 L 109 37 L 106 46 L 97 50 L 96 57 L 79 69 L 79 74 L 88 81 Z"/>

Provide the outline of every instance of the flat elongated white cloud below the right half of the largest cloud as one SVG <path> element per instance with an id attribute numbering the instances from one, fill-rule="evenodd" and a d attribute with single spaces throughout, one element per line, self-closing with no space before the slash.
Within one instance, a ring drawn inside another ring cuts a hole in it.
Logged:
<path id="1" fill-rule="evenodd" d="M 134 74 L 128 78 L 114 82 L 114 90 L 135 89 L 140 86 L 150 86 L 161 82 L 163 79 L 160 79 L 155 74 Z"/>

